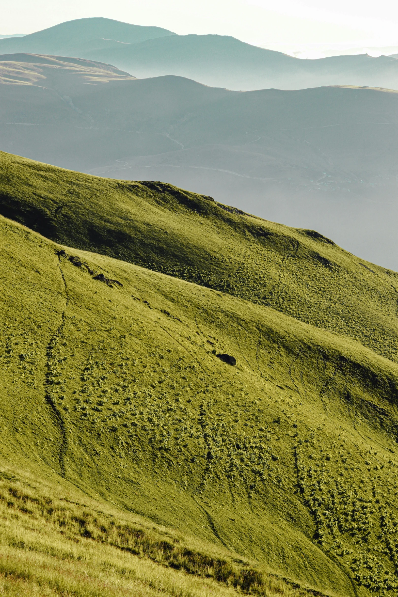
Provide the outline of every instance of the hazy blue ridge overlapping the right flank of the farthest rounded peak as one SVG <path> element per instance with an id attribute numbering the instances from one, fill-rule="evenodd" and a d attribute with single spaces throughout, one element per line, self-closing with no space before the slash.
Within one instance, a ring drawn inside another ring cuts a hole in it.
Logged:
<path id="1" fill-rule="evenodd" d="M 362 54 L 301 60 L 222 35 L 150 39 L 140 44 L 92 50 L 87 58 L 116 64 L 138 78 L 186 76 L 205 85 L 232 90 L 320 85 L 398 89 L 398 61 L 390 56 L 374 58 Z"/>

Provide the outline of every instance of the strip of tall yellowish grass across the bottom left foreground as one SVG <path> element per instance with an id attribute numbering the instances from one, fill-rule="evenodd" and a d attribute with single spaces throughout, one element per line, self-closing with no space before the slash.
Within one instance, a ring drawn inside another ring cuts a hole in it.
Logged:
<path id="1" fill-rule="evenodd" d="M 7 595 L 316 593 L 45 489 L 0 481 L 0 590 Z"/>

